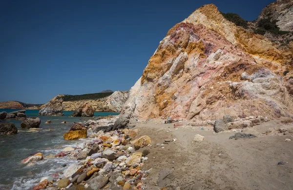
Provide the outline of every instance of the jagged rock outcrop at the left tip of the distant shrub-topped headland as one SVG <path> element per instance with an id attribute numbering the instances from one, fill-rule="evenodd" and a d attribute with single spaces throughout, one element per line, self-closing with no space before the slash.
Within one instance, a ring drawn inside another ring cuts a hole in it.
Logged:
<path id="1" fill-rule="evenodd" d="M 58 95 L 54 97 L 48 103 L 42 105 L 39 115 L 47 115 L 47 116 L 63 115 L 62 103 L 63 103 L 62 95 Z"/>

